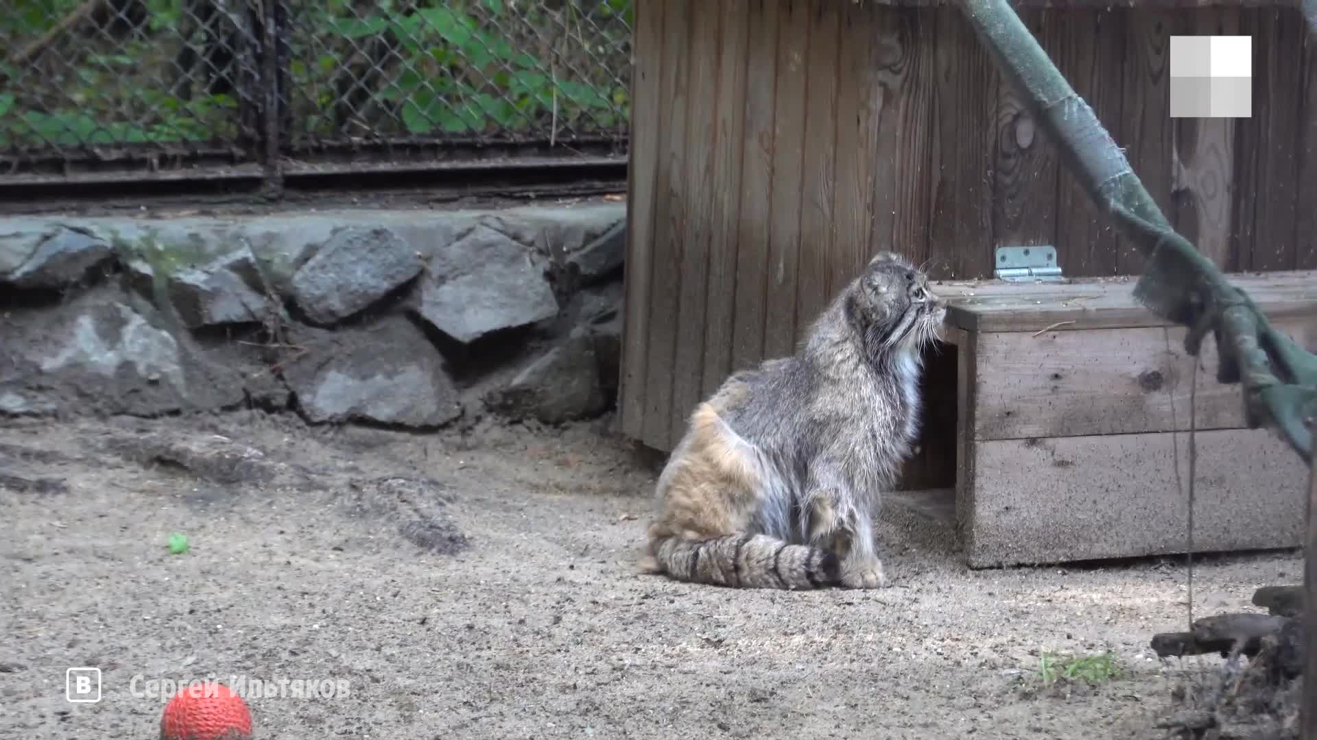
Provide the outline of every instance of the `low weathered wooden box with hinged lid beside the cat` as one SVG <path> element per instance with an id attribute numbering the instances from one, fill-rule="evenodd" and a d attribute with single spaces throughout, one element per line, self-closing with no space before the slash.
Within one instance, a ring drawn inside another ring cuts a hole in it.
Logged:
<path id="1" fill-rule="evenodd" d="M 1230 279 L 1317 349 L 1317 273 Z M 1187 550 L 1193 362 L 1185 329 L 1138 304 L 1134 284 L 934 288 L 951 303 L 956 531 L 971 566 Z M 1245 427 L 1241 386 L 1216 381 L 1212 337 L 1200 359 L 1193 549 L 1299 546 L 1306 466 L 1279 436 Z"/>

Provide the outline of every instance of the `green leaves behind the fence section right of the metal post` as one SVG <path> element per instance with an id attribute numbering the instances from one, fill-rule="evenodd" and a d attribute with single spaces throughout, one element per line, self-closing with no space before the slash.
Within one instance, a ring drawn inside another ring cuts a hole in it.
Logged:
<path id="1" fill-rule="evenodd" d="M 602 29 L 630 28 L 616 21 L 627 20 L 631 0 L 605 0 L 589 17 L 573 18 L 579 11 L 570 4 L 565 16 L 557 18 L 535 4 L 519 8 L 518 13 L 511 16 L 503 0 L 454 1 L 404 16 L 381 13 L 366 18 L 336 16 L 331 11 L 324 28 L 356 43 L 323 41 L 327 53 L 315 67 L 336 70 L 352 65 L 352 58 L 338 58 L 332 50 L 356 50 L 361 40 L 389 38 L 402 72 L 377 95 L 377 101 L 392 104 L 410 134 L 524 133 L 554 122 L 560 126 L 583 122 L 589 128 L 624 124 L 628 92 L 607 67 L 628 63 L 627 40 L 610 40 Z M 579 33 L 573 36 L 573 24 L 590 29 L 589 40 Z M 554 41 L 566 47 L 557 50 L 564 61 L 547 61 L 529 50 L 533 42 L 544 42 L 541 36 L 528 33 L 525 40 L 516 40 L 507 29 L 556 32 Z M 582 82 L 577 78 L 582 72 L 593 72 L 595 79 Z M 294 75 L 313 84 L 316 68 L 295 65 Z M 332 105 L 332 93 L 320 103 Z M 328 116 L 313 119 L 313 129 L 329 121 Z"/>

